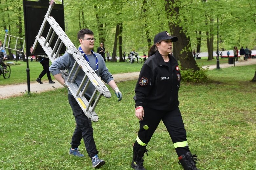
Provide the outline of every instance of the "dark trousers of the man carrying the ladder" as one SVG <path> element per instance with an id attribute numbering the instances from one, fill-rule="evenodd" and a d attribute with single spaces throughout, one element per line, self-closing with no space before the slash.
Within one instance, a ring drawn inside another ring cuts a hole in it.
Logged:
<path id="1" fill-rule="evenodd" d="M 75 116 L 76 128 L 72 136 L 71 148 L 76 148 L 81 144 L 81 139 L 84 139 L 85 148 L 90 158 L 98 154 L 96 144 L 93 138 L 93 129 L 91 125 L 91 120 L 89 120 L 73 95 L 68 95 L 69 104 L 73 110 L 73 115 Z M 88 100 L 88 99 L 87 99 Z M 92 103 L 92 105 L 94 102 Z"/>

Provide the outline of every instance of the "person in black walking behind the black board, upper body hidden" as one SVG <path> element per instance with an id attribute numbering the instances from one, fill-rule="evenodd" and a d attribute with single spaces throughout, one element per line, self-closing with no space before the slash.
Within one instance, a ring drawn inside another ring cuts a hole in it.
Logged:
<path id="1" fill-rule="evenodd" d="M 40 84 L 42 84 L 43 82 L 41 81 L 41 79 L 43 78 L 43 76 L 46 74 L 47 78 L 49 80 L 49 83 L 55 83 L 54 81 L 52 81 L 51 79 L 51 73 L 49 71 L 49 67 L 50 67 L 50 59 L 49 58 L 45 58 L 45 57 L 41 57 L 38 56 L 38 60 L 39 62 L 42 64 L 43 66 L 43 71 L 40 73 L 40 75 L 38 76 L 38 78 L 36 79 L 36 81 Z"/>

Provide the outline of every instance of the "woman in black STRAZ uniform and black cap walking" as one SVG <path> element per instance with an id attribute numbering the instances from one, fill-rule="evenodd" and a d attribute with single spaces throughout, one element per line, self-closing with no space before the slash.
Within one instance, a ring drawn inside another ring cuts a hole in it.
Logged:
<path id="1" fill-rule="evenodd" d="M 186 130 L 179 110 L 178 91 L 181 74 L 178 62 L 170 55 L 172 37 L 167 31 L 158 33 L 150 56 L 141 68 L 135 87 L 135 115 L 140 120 L 140 129 L 133 146 L 131 166 L 135 170 L 145 170 L 143 155 L 158 124 L 162 120 L 172 139 L 178 159 L 184 170 L 196 168 L 196 155 L 192 155 L 186 139 Z"/>

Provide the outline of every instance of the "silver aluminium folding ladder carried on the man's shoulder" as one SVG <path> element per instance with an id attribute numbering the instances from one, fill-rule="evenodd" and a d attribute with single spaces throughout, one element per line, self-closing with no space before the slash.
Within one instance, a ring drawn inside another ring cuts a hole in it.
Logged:
<path id="1" fill-rule="evenodd" d="M 106 98 L 110 98 L 111 93 L 108 90 L 108 88 L 103 84 L 101 79 L 97 76 L 97 74 L 92 70 L 92 68 L 87 63 L 87 61 L 84 59 L 83 54 L 75 48 L 74 44 L 70 41 L 68 36 L 65 34 L 65 32 L 62 30 L 62 28 L 59 26 L 59 24 L 55 21 L 55 19 L 52 16 L 50 16 L 50 12 L 51 12 L 55 2 L 53 0 L 51 0 L 49 4 L 50 4 L 50 6 L 48 8 L 46 15 L 44 16 L 44 21 L 41 25 L 38 35 L 36 36 L 36 40 L 33 44 L 33 47 L 31 47 L 31 49 L 30 49 L 30 52 L 31 53 L 35 52 L 35 48 L 39 42 L 39 44 L 44 49 L 45 53 L 47 54 L 47 56 L 49 57 L 51 62 L 54 62 L 57 59 L 63 44 L 66 46 L 66 48 L 67 48 L 66 52 L 68 52 L 75 58 L 75 63 L 74 63 L 73 68 L 71 69 L 70 73 L 68 73 L 67 70 L 61 70 L 61 75 L 65 80 L 65 84 L 68 86 L 70 92 L 75 97 L 76 101 L 80 105 L 81 109 L 84 111 L 85 115 L 92 121 L 97 122 L 99 117 L 94 111 L 95 107 L 97 106 L 102 95 Z M 47 22 L 50 24 L 50 29 L 49 29 L 49 32 L 48 32 L 46 38 L 44 38 L 41 35 L 43 33 L 43 30 L 44 30 Z M 55 34 L 58 36 L 58 39 L 52 49 L 50 47 L 50 45 L 51 45 L 51 42 L 52 42 Z M 85 72 L 85 76 L 84 76 L 81 84 L 79 86 L 77 86 L 74 83 L 74 81 L 77 77 L 78 72 L 81 69 Z M 94 90 L 90 100 L 88 101 L 84 97 L 84 94 L 85 94 L 90 83 L 92 83 L 94 85 L 95 90 Z M 83 88 L 83 86 L 84 86 L 84 88 Z M 99 93 L 99 95 L 97 96 L 98 93 Z M 95 99 L 95 102 L 91 106 L 94 99 Z"/>

